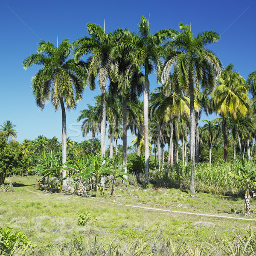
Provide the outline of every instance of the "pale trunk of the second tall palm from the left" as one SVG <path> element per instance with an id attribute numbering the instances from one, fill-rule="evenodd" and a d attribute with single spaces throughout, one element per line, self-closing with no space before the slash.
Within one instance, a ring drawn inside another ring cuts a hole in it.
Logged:
<path id="1" fill-rule="evenodd" d="M 106 92 L 102 92 L 100 111 L 101 157 L 106 154 Z"/>

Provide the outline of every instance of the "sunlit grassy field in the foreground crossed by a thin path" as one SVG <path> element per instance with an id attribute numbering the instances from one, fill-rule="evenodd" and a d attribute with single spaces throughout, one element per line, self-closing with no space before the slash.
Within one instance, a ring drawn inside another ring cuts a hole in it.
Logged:
<path id="1" fill-rule="evenodd" d="M 249 226 L 256 230 L 254 200 L 251 202 L 250 217 L 244 217 L 243 198 L 206 193 L 193 196 L 180 189 L 141 189 L 131 185 L 116 187 L 112 198 L 109 197 L 109 189 L 105 190 L 103 197 L 93 192 L 79 197 L 35 190 L 35 179 L 36 176 L 12 178 L 15 192 L 0 194 L 0 227 L 22 230 L 39 247 L 54 248 L 79 236 L 88 242 L 97 237 L 103 247 L 114 239 L 116 243 L 123 239 L 121 245 L 136 241 L 141 245 L 149 244 L 148 248 L 151 248 L 151 245 L 165 239 L 178 243 L 182 237 L 195 246 L 202 241 L 215 243 L 215 233 L 220 239 L 231 239 L 237 233 L 248 236 Z M 79 226 L 77 212 L 89 212 L 92 220 L 85 226 Z M 220 218 L 217 215 L 248 220 Z"/>

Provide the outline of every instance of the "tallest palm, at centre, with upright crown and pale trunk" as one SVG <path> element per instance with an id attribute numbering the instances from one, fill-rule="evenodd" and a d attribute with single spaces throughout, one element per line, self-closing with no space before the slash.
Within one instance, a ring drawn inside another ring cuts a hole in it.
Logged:
<path id="1" fill-rule="evenodd" d="M 148 74 L 151 73 L 152 67 L 160 70 L 161 59 L 157 49 L 164 40 L 176 35 L 173 29 L 162 29 L 154 35 L 150 33 L 149 23 L 145 17 L 139 23 L 139 40 L 137 49 L 134 52 L 134 60 L 138 65 L 145 68 L 145 78 L 143 87 L 143 111 L 144 111 L 144 137 L 145 137 L 145 184 L 149 183 L 149 146 L 148 146 L 148 98 L 149 98 L 149 81 Z"/>

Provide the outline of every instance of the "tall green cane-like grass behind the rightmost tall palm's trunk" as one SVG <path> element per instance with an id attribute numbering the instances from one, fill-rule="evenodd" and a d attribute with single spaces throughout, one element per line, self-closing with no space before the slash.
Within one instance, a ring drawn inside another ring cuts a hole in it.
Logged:
<path id="1" fill-rule="evenodd" d="M 255 169 L 254 162 L 248 162 L 250 169 Z M 197 192 L 210 192 L 219 195 L 242 196 L 244 187 L 229 172 L 239 174 L 239 166 L 235 162 L 199 163 L 195 166 L 195 190 Z M 150 174 L 154 186 L 166 188 L 189 189 L 190 165 L 186 167 L 181 162 L 175 163 L 171 168 L 166 167 Z"/>

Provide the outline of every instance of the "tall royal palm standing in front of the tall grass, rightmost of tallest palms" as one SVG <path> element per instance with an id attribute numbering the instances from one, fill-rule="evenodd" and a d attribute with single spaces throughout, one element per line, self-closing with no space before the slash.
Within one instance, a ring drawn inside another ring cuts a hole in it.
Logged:
<path id="1" fill-rule="evenodd" d="M 190 192 L 195 193 L 195 106 L 194 84 L 201 83 L 202 88 L 213 87 L 216 77 L 220 75 L 222 64 L 218 57 L 209 49 L 207 44 L 218 41 L 220 35 L 214 31 L 205 31 L 193 36 L 189 25 L 179 25 L 180 33 L 163 47 L 165 64 L 162 80 L 165 82 L 173 66 L 175 77 L 184 92 L 190 94 L 190 163 L 191 183 Z"/>

